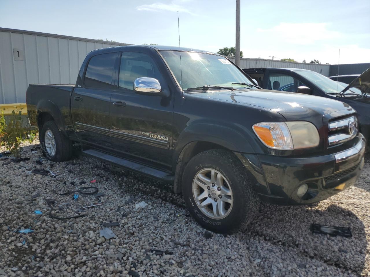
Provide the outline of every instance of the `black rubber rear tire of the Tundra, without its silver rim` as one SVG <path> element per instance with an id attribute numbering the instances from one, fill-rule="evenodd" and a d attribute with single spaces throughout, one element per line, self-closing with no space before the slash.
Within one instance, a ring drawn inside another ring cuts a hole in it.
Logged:
<path id="1" fill-rule="evenodd" d="M 46 151 L 45 133 L 47 130 L 50 130 L 54 135 L 54 139 L 55 139 L 55 155 L 54 156 L 50 156 L 48 152 Z M 60 133 L 58 126 L 57 124 L 55 124 L 54 121 L 48 121 L 41 127 L 40 144 L 41 144 L 41 148 L 44 151 L 44 155 L 50 161 L 54 161 L 54 162 L 68 161 L 72 157 L 72 143 L 64 134 Z"/>

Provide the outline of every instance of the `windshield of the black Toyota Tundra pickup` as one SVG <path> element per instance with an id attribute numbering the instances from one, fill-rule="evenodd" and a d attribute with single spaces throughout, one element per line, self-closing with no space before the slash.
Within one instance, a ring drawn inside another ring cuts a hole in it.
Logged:
<path id="1" fill-rule="evenodd" d="M 255 86 L 254 83 L 228 59 L 222 56 L 181 51 L 180 68 L 180 51 L 161 51 L 161 55 L 183 90 L 190 88 L 201 89 L 203 86 L 256 89 L 253 87 Z M 219 89 L 221 90 L 222 88 Z"/>

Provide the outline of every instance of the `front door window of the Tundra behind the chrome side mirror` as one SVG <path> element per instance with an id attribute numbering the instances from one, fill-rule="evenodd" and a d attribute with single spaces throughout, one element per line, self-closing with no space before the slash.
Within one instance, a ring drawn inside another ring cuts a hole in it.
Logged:
<path id="1" fill-rule="evenodd" d="M 160 81 L 161 74 L 155 62 L 147 54 L 123 52 L 118 86 L 121 89 L 133 90 L 135 79 L 140 77 L 150 77 Z"/>

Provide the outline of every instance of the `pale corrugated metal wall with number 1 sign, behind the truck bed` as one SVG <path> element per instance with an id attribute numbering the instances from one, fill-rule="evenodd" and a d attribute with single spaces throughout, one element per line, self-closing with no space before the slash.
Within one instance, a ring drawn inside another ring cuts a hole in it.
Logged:
<path id="1" fill-rule="evenodd" d="M 75 83 L 88 52 L 120 45 L 0 28 L 0 104 L 26 102 L 30 83 Z"/>

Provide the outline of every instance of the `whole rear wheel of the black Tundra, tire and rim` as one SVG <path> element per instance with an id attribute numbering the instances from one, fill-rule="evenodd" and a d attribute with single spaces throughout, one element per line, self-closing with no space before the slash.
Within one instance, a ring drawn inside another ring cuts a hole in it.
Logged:
<path id="1" fill-rule="evenodd" d="M 44 154 L 51 161 L 68 161 L 72 156 L 71 141 L 59 131 L 54 121 L 48 121 L 42 126 L 40 144 Z"/>

